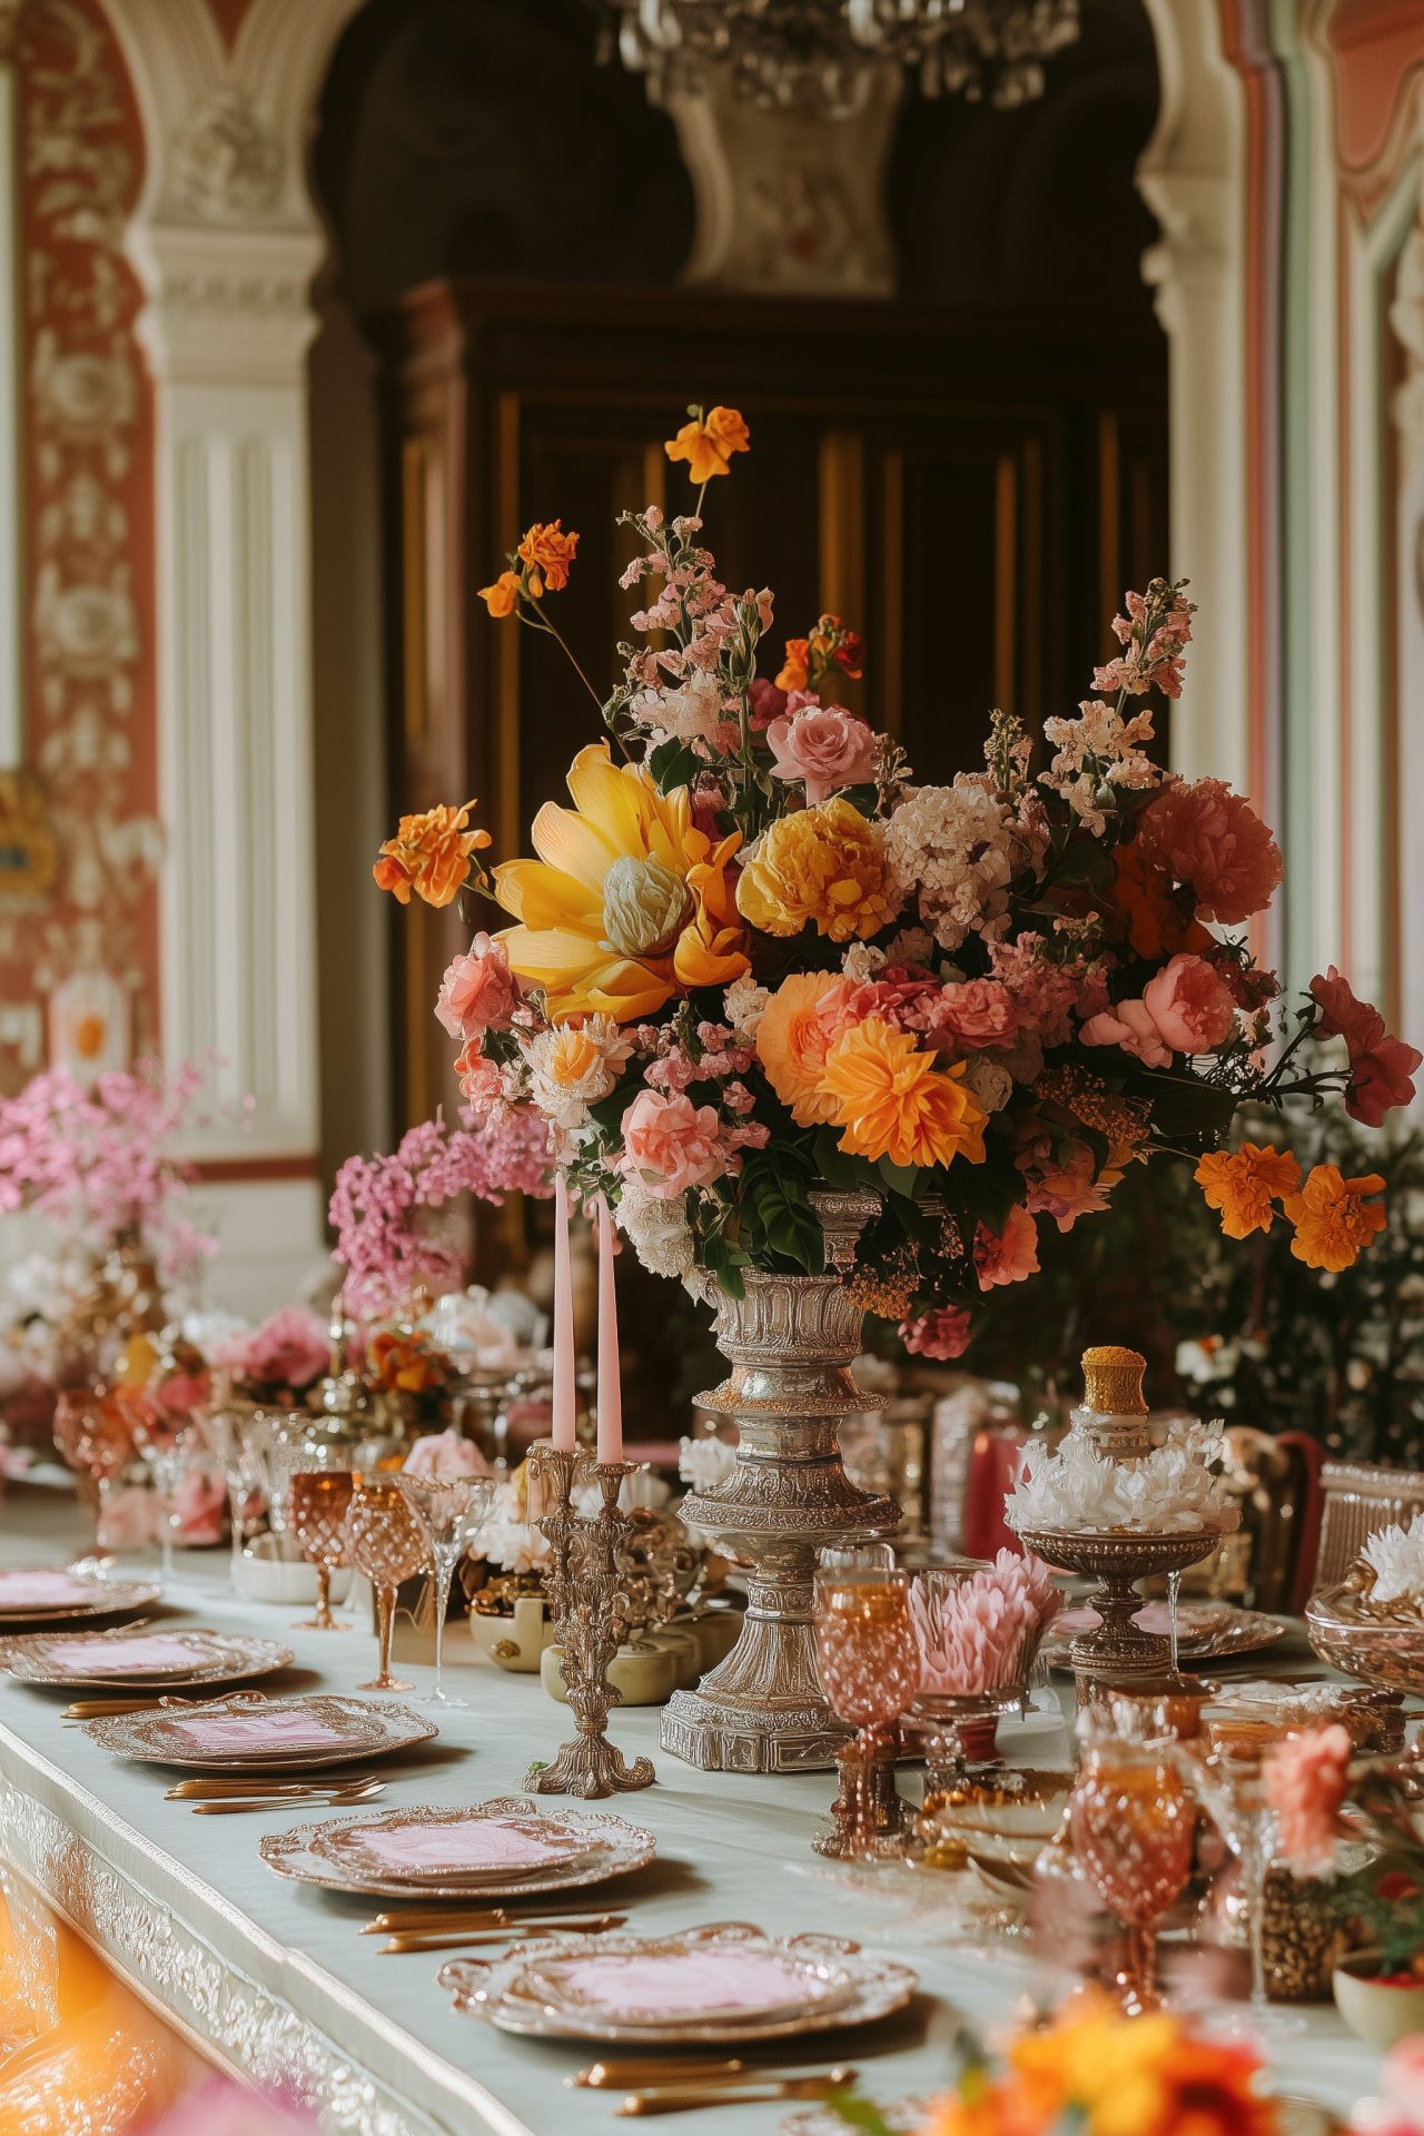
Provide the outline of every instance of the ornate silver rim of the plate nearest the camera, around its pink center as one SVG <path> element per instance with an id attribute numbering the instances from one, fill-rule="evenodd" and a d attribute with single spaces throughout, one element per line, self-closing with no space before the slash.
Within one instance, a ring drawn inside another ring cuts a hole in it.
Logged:
<path id="1" fill-rule="evenodd" d="M 796 2010 L 739 2010 L 698 2016 L 687 2010 L 634 2021 L 615 2016 L 604 2004 L 579 2004 L 576 1995 L 549 1989 L 559 1965 L 570 1959 L 615 1963 L 617 1959 L 666 1961 L 707 1948 L 734 1946 L 779 1959 L 796 1969 L 824 1969 L 828 1993 Z M 766 1935 L 745 1920 L 713 1920 L 673 1935 L 551 1935 L 538 1944 L 517 1944 L 495 1961 L 450 1959 L 440 1969 L 455 2008 L 527 2038 L 602 2040 L 638 2046 L 694 2046 L 734 2040 L 794 2040 L 813 2031 L 871 2025 L 901 2010 L 918 1986 L 907 1965 L 880 1959 L 839 1935 Z"/>

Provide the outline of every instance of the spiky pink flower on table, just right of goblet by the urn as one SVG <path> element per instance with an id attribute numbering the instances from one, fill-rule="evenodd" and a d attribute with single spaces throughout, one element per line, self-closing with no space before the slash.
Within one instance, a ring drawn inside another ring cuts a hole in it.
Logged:
<path id="1" fill-rule="evenodd" d="M 1063 1606 L 1038 1557 L 999 1551 L 967 1581 L 909 1587 L 920 1647 L 920 1690 L 931 1694 L 999 1692 L 1023 1683 L 1038 1645 Z"/>

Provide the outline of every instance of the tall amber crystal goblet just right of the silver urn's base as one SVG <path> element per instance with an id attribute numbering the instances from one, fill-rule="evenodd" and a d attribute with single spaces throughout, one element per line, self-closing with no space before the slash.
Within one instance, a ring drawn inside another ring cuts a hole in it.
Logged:
<path id="1" fill-rule="evenodd" d="M 837 1752 L 841 1792 L 818 1854 L 837 1860 L 903 1854 L 895 1790 L 899 1717 L 920 1683 L 909 1574 L 890 1566 L 822 1566 L 816 1574 L 816 1660 L 826 1702 L 856 1730 Z"/>

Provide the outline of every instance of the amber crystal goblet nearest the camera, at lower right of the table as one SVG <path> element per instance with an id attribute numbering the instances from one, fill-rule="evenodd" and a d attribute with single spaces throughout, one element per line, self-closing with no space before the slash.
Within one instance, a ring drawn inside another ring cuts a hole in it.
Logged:
<path id="1" fill-rule="evenodd" d="M 1067 1801 L 1067 1828 L 1082 1871 L 1127 1929 L 1123 2010 L 1159 2010 L 1157 1922 L 1187 1886 L 1196 1837 L 1196 1803 L 1170 1752 L 1097 1743 Z"/>

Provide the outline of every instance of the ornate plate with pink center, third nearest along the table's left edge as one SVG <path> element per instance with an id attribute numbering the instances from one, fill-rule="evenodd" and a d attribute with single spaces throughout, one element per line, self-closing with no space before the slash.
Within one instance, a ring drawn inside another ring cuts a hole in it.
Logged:
<path id="1" fill-rule="evenodd" d="M 88 1724 L 100 1749 L 139 1764 L 201 1773 L 307 1773 L 389 1758 L 429 1743 L 438 1728 L 391 1698 L 265 1698 L 237 1692 L 201 1713 L 115 1713 Z"/>

